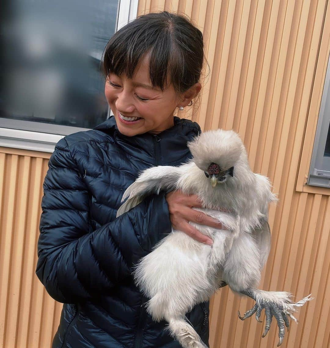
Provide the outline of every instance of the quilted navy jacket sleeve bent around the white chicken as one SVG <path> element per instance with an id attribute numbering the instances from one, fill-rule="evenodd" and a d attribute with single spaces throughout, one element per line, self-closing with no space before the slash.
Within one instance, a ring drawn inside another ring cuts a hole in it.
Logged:
<path id="1" fill-rule="evenodd" d="M 65 139 L 56 144 L 48 167 L 36 274 L 59 302 L 107 293 L 171 231 L 165 193 L 92 232 L 89 195 Z"/>

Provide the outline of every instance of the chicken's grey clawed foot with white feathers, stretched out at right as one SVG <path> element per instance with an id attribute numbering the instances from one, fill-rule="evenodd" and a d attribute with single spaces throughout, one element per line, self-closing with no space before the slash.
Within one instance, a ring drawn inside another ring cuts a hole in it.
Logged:
<path id="1" fill-rule="evenodd" d="M 296 323 L 298 323 L 297 319 L 292 315 L 292 312 L 297 311 L 295 307 L 301 307 L 307 301 L 313 300 L 313 297 L 309 297 L 311 295 L 309 294 L 300 301 L 294 303 L 290 299 L 292 295 L 289 292 L 285 291 L 263 291 L 258 289 L 247 289 L 240 291 L 240 293 L 249 296 L 256 301 L 253 308 L 244 313 L 243 317 L 240 316 L 240 313 L 238 311 L 238 317 L 241 320 L 245 320 L 255 313 L 256 320 L 261 323 L 261 321 L 259 320 L 260 314 L 262 309 L 265 309 L 266 325 L 262 337 L 265 337 L 267 335 L 267 332 L 270 329 L 272 317 L 274 316 L 276 318 L 279 337 L 277 347 L 281 346 L 283 342 L 284 324 L 287 327 L 287 331 L 289 331 L 289 317 L 291 317 Z"/>

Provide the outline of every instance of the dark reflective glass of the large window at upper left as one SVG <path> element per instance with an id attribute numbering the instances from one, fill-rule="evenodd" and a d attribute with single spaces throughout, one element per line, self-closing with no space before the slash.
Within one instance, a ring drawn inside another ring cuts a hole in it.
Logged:
<path id="1" fill-rule="evenodd" d="M 100 59 L 119 0 L 10 0 L 1 14 L 1 118 L 93 128 L 107 118 Z"/>

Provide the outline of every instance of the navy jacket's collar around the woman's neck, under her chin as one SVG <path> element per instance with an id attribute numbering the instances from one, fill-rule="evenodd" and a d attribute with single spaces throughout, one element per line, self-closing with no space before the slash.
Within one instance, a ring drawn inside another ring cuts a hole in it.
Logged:
<path id="1" fill-rule="evenodd" d="M 114 116 L 93 129 L 113 135 L 115 142 L 126 153 L 153 165 L 179 164 L 184 161 L 190 157 L 187 142 L 201 133 L 197 122 L 177 116 L 174 116 L 174 126 L 159 134 L 125 136 L 119 132 Z"/>

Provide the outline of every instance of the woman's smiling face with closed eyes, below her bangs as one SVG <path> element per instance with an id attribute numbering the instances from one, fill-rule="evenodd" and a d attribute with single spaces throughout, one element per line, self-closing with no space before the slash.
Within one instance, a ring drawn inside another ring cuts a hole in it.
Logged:
<path id="1" fill-rule="evenodd" d="M 152 89 L 148 63 L 145 55 L 131 80 L 115 74 L 110 74 L 106 80 L 105 96 L 118 130 L 126 136 L 159 133 L 172 127 L 175 108 L 186 105 L 185 98 L 180 102 L 172 85 L 163 92 Z"/>

